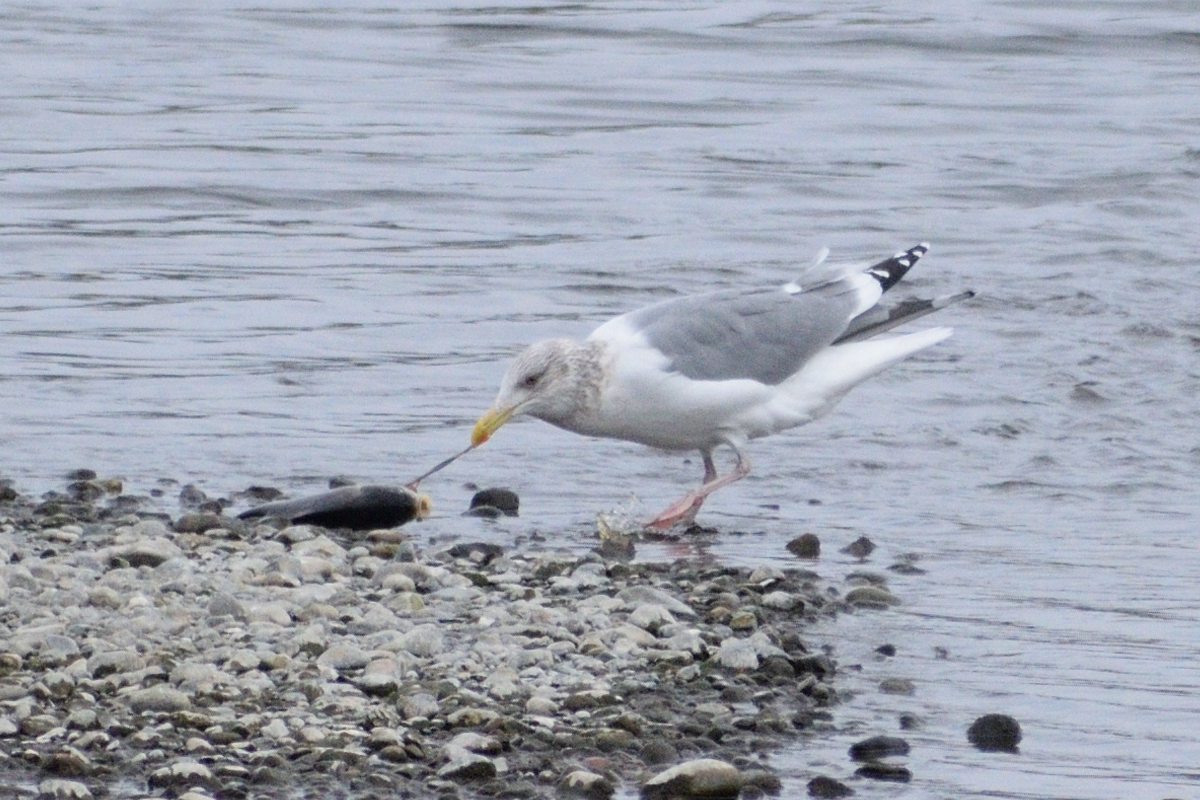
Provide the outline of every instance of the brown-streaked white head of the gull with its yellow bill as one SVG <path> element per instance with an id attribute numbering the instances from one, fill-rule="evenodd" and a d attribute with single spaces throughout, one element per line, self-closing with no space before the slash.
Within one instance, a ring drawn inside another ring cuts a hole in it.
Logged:
<path id="1" fill-rule="evenodd" d="M 570 339 L 547 339 L 526 348 L 509 366 L 496 403 L 470 434 L 475 447 L 514 416 L 528 414 L 552 423 L 570 422 L 580 410 L 581 363 L 587 348 Z"/>

